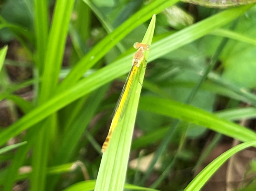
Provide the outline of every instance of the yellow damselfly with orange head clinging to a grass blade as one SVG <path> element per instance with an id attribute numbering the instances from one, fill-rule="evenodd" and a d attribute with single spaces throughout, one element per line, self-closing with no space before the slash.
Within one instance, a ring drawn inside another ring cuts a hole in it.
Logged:
<path id="1" fill-rule="evenodd" d="M 119 97 L 116 108 L 114 110 L 114 115 L 113 115 L 113 119 L 112 119 L 112 122 L 111 122 L 111 125 L 109 128 L 109 133 L 108 133 L 107 138 L 101 148 L 102 153 L 106 151 L 107 146 L 109 145 L 109 141 L 114 132 L 114 129 L 117 126 L 117 123 L 118 123 L 118 121 L 121 120 L 121 118 L 124 115 L 124 108 L 129 100 L 129 92 L 131 90 L 131 86 L 132 86 L 132 82 L 134 81 L 135 74 L 137 74 L 140 64 L 145 60 L 144 51 L 148 51 L 150 46 L 148 44 L 136 42 L 136 43 L 134 43 L 134 48 L 138 49 L 138 50 L 137 50 L 137 52 L 135 52 L 134 57 L 132 58 L 132 69 L 130 70 L 130 73 L 128 74 L 126 83 L 124 84 L 121 95 Z"/>

